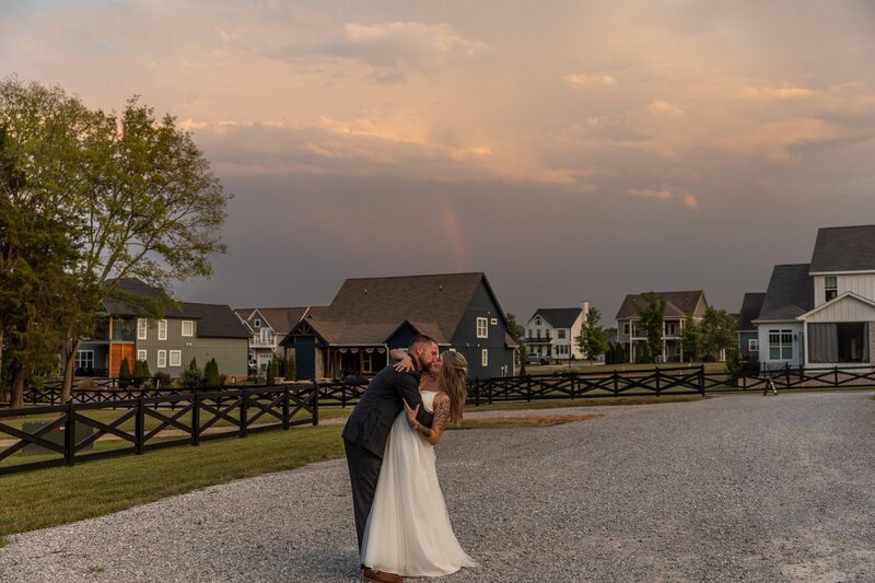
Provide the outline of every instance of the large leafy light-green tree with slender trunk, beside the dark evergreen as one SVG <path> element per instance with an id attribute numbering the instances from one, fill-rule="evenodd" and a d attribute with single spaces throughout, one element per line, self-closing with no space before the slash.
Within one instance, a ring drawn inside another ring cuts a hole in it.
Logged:
<path id="1" fill-rule="evenodd" d="M 175 118 L 158 120 L 137 97 L 120 115 L 107 114 L 59 88 L 8 78 L 0 82 L 2 125 L 21 150 L 25 200 L 52 209 L 78 246 L 70 270 L 77 293 L 65 318 L 69 400 L 79 343 L 102 302 L 118 293 L 115 282 L 136 277 L 166 292 L 171 279 L 209 276 L 208 257 L 224 250 L 229 195 Z M 153 299 L 142 310 L 159 306 Z"/>

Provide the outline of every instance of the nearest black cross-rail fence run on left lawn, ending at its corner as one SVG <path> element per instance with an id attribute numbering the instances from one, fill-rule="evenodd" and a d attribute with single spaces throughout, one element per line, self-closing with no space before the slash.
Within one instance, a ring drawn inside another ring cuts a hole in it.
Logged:
<path id="1" fill-rule="evenodd" d="M 0 410 L 0 475 L 315 425 L 318 418 L 316 392 L 288 385 L 5 409 Z M 28 419 L 36 421 L 30 431 Z M 102 438 L 112 446 L 96 450 Z M 28 451 L 36 459 L 11 459 Z"/>

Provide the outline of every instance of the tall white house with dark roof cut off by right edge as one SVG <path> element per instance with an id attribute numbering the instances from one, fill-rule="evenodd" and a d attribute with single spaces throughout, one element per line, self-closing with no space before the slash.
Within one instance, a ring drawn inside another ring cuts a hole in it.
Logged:
<path id="1" fill-rule="evenodd" d="M 798 316 L 806 366 L 875 363 L 875 225 L 819 229 L 808 269 L 813 306 Z"/>

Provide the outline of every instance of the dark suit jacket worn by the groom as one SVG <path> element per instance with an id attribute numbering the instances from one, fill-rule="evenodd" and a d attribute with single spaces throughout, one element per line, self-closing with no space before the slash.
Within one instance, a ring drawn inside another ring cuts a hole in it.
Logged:
<path id="1" fill-rule="evenodd" d="M 404 410 L 401 399 L 406 399 L 411 408 L 420 405 L 417 420 L 423 425 L 431 427 L 432 415 L 421 407 L 419 373 L 399 373 L 388 365 L 368 385 L 361 400 L 347 420 L 342 438 L 382 459 L 392 424 Z"/>

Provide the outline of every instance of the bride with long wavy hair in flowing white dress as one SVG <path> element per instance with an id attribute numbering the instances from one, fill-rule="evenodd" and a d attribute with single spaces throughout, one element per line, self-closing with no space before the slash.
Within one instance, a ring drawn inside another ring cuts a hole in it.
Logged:
<path id="1" fill-rule="evenodd" d="M 428 389 L 427 377 L 420 384 L 422 406 L 434 415 L 431 429 L 417 422 L 418 406 L 405 403 L 383 455 L 361 561 L 385 573 L 436 576 L 477 564 L 456 540 L 434 467 L 434 444 L 444 425 L 462 419 L 467 362 L 448 351 L 440 360 L 435 389 Z"/>

